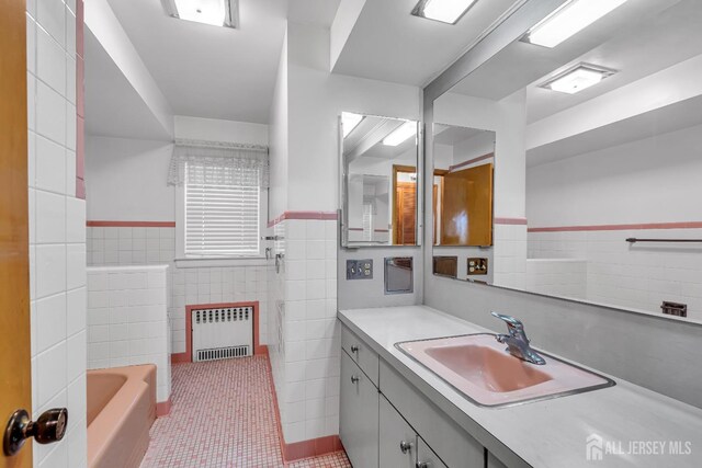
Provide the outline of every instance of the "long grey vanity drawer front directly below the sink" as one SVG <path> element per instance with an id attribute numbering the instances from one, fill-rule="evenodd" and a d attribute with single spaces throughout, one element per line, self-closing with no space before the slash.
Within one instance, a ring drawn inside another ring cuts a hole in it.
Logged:
<path id="1" fill-rule="evenodd" d="M 450 468 L 483 468 L 485 450 L 387 363 L 380 363 L 381 392 Z"/>

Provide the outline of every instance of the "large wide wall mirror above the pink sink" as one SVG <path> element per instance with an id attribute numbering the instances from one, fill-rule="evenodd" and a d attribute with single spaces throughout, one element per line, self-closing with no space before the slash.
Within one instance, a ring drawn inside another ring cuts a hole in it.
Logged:
<path id="1" fill-rule="evenodd" d="M 702 2 L 616 3 L 567 37 L 547 16 L 434 101 L 433 271 L 702 321 Z M 449 244 L 440 178 L 466 161 L 494 164 L 491 242 Z"/>

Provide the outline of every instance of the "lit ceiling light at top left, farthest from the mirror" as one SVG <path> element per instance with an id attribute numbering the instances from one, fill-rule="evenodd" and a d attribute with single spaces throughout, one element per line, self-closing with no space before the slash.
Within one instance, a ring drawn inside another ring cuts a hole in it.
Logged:
<path id="1" fill-rule="evenodd" d="M 161 0 L 173 18 L 213 26 L 237 27 L 238 0 Z"/>

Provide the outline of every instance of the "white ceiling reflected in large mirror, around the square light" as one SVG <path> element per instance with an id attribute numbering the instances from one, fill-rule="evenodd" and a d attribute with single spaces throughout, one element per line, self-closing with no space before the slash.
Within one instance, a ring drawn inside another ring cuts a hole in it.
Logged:
<path id="1" fill-rule="evenodd" d="M 451 92 L 500 100 L 526 87 L 532 123 L 701 54 L 700 24 L 700 0 L 632 0 L 556 48 L 511 44 Z M 619 72 L 577 94 L 539 88 L 580 61 Z"/>

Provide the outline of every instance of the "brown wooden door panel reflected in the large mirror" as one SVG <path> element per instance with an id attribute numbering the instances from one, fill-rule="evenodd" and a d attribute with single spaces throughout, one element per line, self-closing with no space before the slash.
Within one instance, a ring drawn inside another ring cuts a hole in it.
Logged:
<path id="1" fill-rule="evenodd" d="M 443 176 L 440 237 L 442 246 L 492 244 L 492 163 Z"/>

